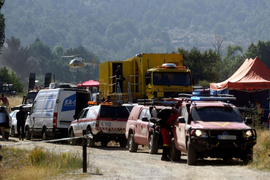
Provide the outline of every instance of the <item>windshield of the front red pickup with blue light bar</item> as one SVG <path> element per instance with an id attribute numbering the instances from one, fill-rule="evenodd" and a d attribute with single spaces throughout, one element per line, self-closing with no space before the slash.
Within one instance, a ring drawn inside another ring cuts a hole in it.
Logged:
<path id="1" fill-rule="evenodd" d="M 233 107 L 193 107 L 193 121 L 242 121 L 242 117 Z"/>

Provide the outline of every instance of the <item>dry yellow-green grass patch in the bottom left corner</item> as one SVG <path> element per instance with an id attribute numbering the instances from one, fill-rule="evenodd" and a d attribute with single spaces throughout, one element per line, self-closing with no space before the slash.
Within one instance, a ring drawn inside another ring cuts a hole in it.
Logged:
<path id="1" fill-rule="evenodd" d="M 78 153 L 56 153 L 36 147 L 32 150 L 2 148 L 0 179 L 69 179 L 82 168 Z"/>

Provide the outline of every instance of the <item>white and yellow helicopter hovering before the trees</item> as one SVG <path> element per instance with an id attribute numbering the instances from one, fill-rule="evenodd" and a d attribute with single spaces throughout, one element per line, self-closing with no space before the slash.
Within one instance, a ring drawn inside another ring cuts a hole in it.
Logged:
<path id="1" fill-rule="evenodd" d="M 96 54 L 104 54 L 104 53 L 96 53 Z M 96 55 L 96 54 L 86 54 L 86 55 Z M 71 55 L 73 55 L 73 54 L 71 54 Z M 84 55 L 84 56 L 86 56 L 86 55 Z M 76 72 L 77 69 L 79 69 L 80 71 L 86 71 L 85 66 L 93 66 L 93 68 L 95 69 L 95 66 L 97 65 L 96 62 L 95 62 L 96 57 L 95 57 L 93 63 L 87 63 L 80 56 L 82 56 L 82 55 L 77 54 L 77 55 L 73 55 L 73 56 L 62 56 L 62 57 L 75 57 L 69 63 L 69 67 L 70 67 L 71 72 Z"/>

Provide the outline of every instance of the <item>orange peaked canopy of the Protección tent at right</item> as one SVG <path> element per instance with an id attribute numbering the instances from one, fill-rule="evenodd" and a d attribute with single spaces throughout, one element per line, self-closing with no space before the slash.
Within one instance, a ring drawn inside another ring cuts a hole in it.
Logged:
<path id="1" fill-rule="evenodd" d="M 256 57 L 246 59 L 242 66 L 227 80 L 211 83 L 211 90 L 222 89 L 270 89 L 270 69 Z"/>

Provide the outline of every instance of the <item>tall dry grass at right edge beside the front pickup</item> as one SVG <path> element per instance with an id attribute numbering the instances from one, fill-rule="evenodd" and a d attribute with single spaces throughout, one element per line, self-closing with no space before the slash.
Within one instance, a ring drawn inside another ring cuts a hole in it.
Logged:
<path id="1" fill-rule="evenodd" d="M 249 166 L 270 171 L 270 131 L 267 129 L 256 132 L 257 144 L 253 147 L 253 162 Z"/>

